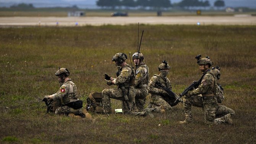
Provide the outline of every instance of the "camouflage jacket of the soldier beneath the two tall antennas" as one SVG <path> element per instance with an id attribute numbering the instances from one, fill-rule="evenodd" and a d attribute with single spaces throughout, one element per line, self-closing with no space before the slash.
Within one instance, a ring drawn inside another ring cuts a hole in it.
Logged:
<path id="1" fill-rule="evenodd" d="M 142 63 L 136 68 L 136 76 L 134 87 L 135 88 L 142 88 L 147 87 L 149 83 L 149 68 L 147 67 L 146 63 Z"/>

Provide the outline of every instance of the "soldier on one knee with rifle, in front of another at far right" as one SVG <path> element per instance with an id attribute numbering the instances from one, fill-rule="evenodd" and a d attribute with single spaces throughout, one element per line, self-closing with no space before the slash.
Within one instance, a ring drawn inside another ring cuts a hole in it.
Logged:
<path id="1" fill-rule="evenodd" d="M 201 55 L 200 55 L 201 56 Z M 197 57 L 196 57 L 197 58 Z M 191 111 L 191 105 L 200 106 L 204 109 L 204 122 L 206 124 L 222 124 L 232 123 L 231 115 L 227 114 L 224 117 L 215 119 L 215 112 L 218 108 L 216 99 L 217 77 L 209 68 L 213 65 L 213 62 L 209 57 L 198 58 L 197 61 L 199 69 L 203 72 L 202 81 L 198 88 L 192 92 L 188 92 L 183 99 L 183 106 L 185 111 L 185 120 L 180 121 L 181 124 L 193 122 L 193 116 Z"/>

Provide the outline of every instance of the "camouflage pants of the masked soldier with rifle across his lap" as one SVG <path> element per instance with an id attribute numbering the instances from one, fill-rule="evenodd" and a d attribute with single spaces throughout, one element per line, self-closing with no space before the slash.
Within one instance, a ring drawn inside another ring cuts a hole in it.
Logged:
<path id="1" fill-rule="evenodd" d="M 172 110 L 172 106 L 160 95 L 151 95 L 150 98 L 150 103 L 152 106 L 150 108 L 156 108 L 157 106 L 163 105 L 165 108 L 165 111 L 170 111 Z M 175 101 L 175 100 L 174 100 Z M 147 107 L 149 108 L 149 106 Z"/>

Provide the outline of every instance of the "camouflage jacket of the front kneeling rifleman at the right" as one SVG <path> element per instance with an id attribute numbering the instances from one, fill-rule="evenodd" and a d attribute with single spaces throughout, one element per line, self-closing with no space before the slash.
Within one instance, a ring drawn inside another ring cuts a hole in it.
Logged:
<path id="1" fill-rule="evenodd" d="M 207 71 L 198 88 L 190 92 L 190 95 L 215 96 L 218 87 L 217 82 L 218 80 L 212 71 Z"/>

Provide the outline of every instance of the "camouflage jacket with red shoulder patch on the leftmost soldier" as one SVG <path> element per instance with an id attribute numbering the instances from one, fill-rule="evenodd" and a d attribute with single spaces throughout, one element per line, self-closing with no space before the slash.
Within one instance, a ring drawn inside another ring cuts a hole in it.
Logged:
<path id="1" fill-rule="evenodd" d="M 71 101 L 75 101 L 78 98 L 78 89 L 76 84 L 69 79 L 64 82 L 58 92 L 53 94 L 53 100 L 60 99 L 62 104 L 67 104 Z M 73 100 L 72 100 L 73 99 Z M 71 100 L 71 101 L 70 101 Z"/>

